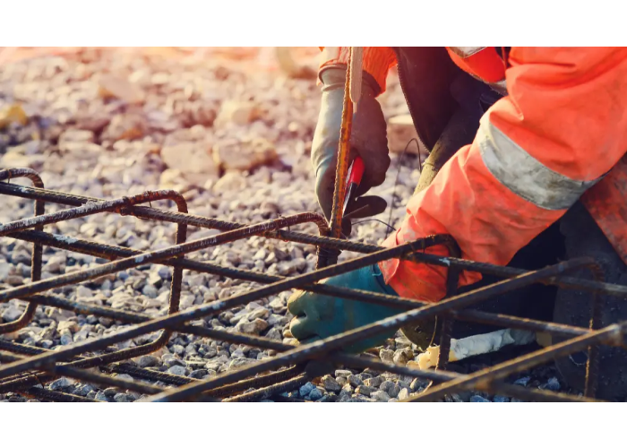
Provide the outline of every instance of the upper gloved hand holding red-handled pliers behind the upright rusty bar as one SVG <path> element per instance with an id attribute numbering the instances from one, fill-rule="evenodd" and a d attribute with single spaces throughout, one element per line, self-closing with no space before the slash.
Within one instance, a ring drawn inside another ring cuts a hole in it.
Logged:
<path id="1" fill-rule="evenodd" d="M 338 165 L 339 129 L 342 122 L 342 108 L 344 106 L 344 88 L 346 70 L 342 68 L 328 68 L 321 73 L 322 107 L 315 128 L 312 145 L 312 163 L 314 164 L 318 202 L 324 211 L 327 220 L 331 219 L 333 207 L 333 191 L 335 188 L 335 171 Z M 359 155 L 364 159 L 365 173 L 358 195 L 365 194 L 373 186 L 382 185 L 385 174 L 390 168 L 388 155 L 388 139 L 386 134 L 385 118 L 381 105 L 374 97 L 378 86 L 368 77 L 362 83 L 362 96 L 358 108 L 353 116 L 353 127 L 350 137 L 351 161 Z M 374 216 L 385 211 L 386 202 L 381 198 L 374 201 L 360 198 L 350 205 L 348 212 L 362 209 L 355 218 Z"/>

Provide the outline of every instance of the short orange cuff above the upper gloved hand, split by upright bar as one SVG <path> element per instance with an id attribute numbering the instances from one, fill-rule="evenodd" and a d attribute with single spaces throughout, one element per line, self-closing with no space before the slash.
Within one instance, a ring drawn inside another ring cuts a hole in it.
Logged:
<path id="1" fill-rule="evenodd" d="M 329 65 L 348 65 L 350 47 L 348 46 L 319 46 L 322 50 L 322 62 L 320 68 Z M 381 92 L 385 91 L 385 80 L 390 68 L 396 65 L 396 54 L 389 46 L 365 46 L 364 70 L 373 76 L 379 84 Z"/>

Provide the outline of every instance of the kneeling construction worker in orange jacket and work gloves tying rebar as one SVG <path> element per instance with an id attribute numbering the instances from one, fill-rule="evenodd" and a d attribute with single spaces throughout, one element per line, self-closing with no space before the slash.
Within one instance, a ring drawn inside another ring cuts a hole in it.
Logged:
<path id="1" fill-rule="evenodd" d="M 350 47 L 323 47 L 319 72 L 322 107 L 312 161 L 327 218 L 349 53 Z M 382 185 L 390 166 L 376 97 L 393 65 L 417 133 L 432 151 L 406 219 L 383 246 L 450 234 L 463 258 L 507 265 L 527 251 L 525 267 L 537 269 L 548 264 L 542 249 L 551 245 L 548 258 L 554 261 L 564 254 L 591 255 L 604 267 L 606 280 L 627 279 L 627 47 L 372 46 L 363 54 L 362 95 L 351 135 L 352 157 L 365 162 L 358 194 Z M 426 252 L 448 255 L 443 246 Z M 433 303 L 445 296 L 446 275 L 440 266 L 395 259 L 326 283 Z M 460 287 L 474 288 L 479 280 L 477 272 L 464 271 Z M 511 302 L 520 310 L 532 298 L 519 294 L 518 302 Z M 589 300 L 588 293 L 560 290 L 545 320 L 588 326 Z M 627 319 L 621 300 L 604 300 L 612 306 L 600 325 Z M 523 316 L 538 317 L 533 309 L 542 304 L 535 303 Z M 399 313 L 314 293 L 296 293 L 288 309 L 296 316 L 291 332 L 301 341 Z M 392 334 L 348 349 L 369 349 Z M 627 377 L 620 372 L 627 372 L 627 355 L 609 348 L 603 354 L 599 396 L 624 398 Z M 576 355 L 557 366 L 580 387 L 586 355 Z"/>

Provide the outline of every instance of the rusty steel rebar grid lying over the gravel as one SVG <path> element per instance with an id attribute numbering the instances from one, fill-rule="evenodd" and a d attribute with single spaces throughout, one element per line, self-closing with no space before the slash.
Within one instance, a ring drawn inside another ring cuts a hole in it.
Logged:
<path id="1" fill-rule="evenodd" d="M 16 177 L 28 177 L 33 181 L 34 186 L 11 185 L 9 183 L 10 180 Z M 0 291 L 0 302 L 19 298 L 28 302 L 27 309 L 16 322 L 0 325 L 0 332 L 14 332 L 28 325 L 33 319 L 38 306 L 56 306 L 77 314 L 93 314 L 99 317 L 115 319 L 122 323 L 133 324 L 133 326 L 115 334 L 99 339 L 85 340 L 84 342 L 63 349 L 57 348 L 56 350 L 40 349 L 8 340 L 0 340 L 0 350 L 2 350 L 0 351 L 0 363 L 3 363 L 0 366 L 0 393 L 20 392 L 46 401 L 89 401 L 83 397 L 41 389 L 42 385 L 54 380 L 56 377 L 67 376 L 80 379 L 86 383 L 106 385 L 123 391 L 142 393 L 144 397 L 142 401 L 258 401 L 275 397 L 281 392 L 294 390 L 298 385 L 312 380 L 314 376 L 324 375 L 333 366 L 340 365 L 356 368 L 370 367 L 378 371 L 409 375 L 434 382 L 432 387 L 409 401 L 434 401 L 442 398 L 444 394 L 461 390 L 499 393 L 528 401 L 595 401 L 594 395 L 599 369 L 595 348 L 598 344 L 621 347 L 624 347 L 625 344 L 624 332 L 627 329 L 627 322 L 615 323 L 606 328 L 598 328 L 598 316 L 601 313 L 602 301 L 597 297 L 600 294 L 604 294 L 617 297 L 618 299 L 625 298 L 627 297 L 627 287 L 599 281 L 598 275 L 595 276 L 596 280 L 581 280 L 565 276 L 568 272 L 578 269 L 588 269 L 598 274 L 597 263 L 592 259 L 576 259 L 558 263 L 538 271 L 524 271 L 511 267 L 475 263 L 458 257 L 442 257 L 424 253 L 425 249 L 430 246 L 446 245 L 451 247 L 451 245 L 454 245 L 451 237 L 444 235 L 428 237 L 391 249 L 327 237 L 330 229 L 323 217 L 316 213 L 301 213 L 277 220 L 268 220 L 259 224 L 244 225 L 191 215 L 187 213 L 187 206 L 183 196 L 174 191 L 146 192 L 130 198 L 124 197 L 105 201 L 46 190 L 43 188 L 44 185 L 35 171 L 23 168 L 0 170 L 0 181 L 4 181 L 0 182 L 0 194 L 28 198 L 36 203 L 35 216 L 33 218 L 0 225 L 0 237 L 19 239 L 33 244 L 31 282 L 23 286 Z M 178 211 L 163 211 L 140 205 L 147 202 L 157 202 L 162 199 L 174 201 Z M 45 214 L 45 202 L 68 205 L 72 208 Z M 126 247 L 90 242 L 75 237 L 52 235 L 44 231 L 44 226 L 50 223 L 72 220 L 102 212 L 132 215 L 142 220 L 176 223 L 178 226 L 176 242 L 173 246 L 165 249 L 142 252 Z M 316 224 L 320 236 L 284 229 L 306 222 Z M 223 233 L 192 242 L 185 242 L 187 227 L 190 225 L 200 228 L 216 228 L 222 230 Z M 314 245 L 319 250 L 347 250 L 363 255 L 349 262 L 323 267 L 316 271 L 290 278 L 185 259 L 185 254 L 251 236 L 278 238 L 285 241 Z M 109 263 L 41 280 L 41 255 L 44 246 L 81 254 L 90 254 L 108 260 Z M 437 304 L 425 304 L 403 297 L 392 297 L 317 283 L 319 280 L 354 271 L 390 258 L 403 258 L 417 263 L 431 263 L 449 267 L 451 268 L 450 278 L 452 280 L 456 280 L 459 272 L 463 270 L 496 275 L 505 280 L 464 294 L 455 292 L 454 286 L 456 282 L 451 280 L 449 281 L 447 298 Z M 151 318 L 147 314 L 121 311 L 107 306 L 87 305 L 66 298 L 45 295 L 47 291 L 61 286 L 97 279 L 103 275 L 125 271 L 129 268 L 149 263 L 159 263 L 170 266 L 173 269 L 169 309 L 167 316 L 164 317 Z M 259 283 L 262 286 L 227 299 L 216 300 L 210 304 L 194 306 L 185 311 L 180 311 L 178 303 L 184 270 L 247 280 Z M 561 288 L 580 289 L 591 293 L 589 328 L 464 309 L 491 297 L 524 288 L 537 282 L 552 284 Z M 394 306 L 399 308 L 399 314 L 326 340 L 298 347 L 262 337 L 214 330 L 202 326 L 202 321 L 198 322 L 203 318 L 219 314 L 235 306 L 243 306 L 254 300 L 269 297 L 289 289 L 303 289 L 349 300 Z M 380 361 L 347 355 L 342 352 L 343 347 L 358 340 L 370 338 L 386 332 L 390 328 L 399 328 L 408 323 L 417 323 L 433 317 L 441 318 L 448 329 L 451 328 L 451 325 L 456 320 L 463 320 L 487 323 L 505 328 L 548 332 L 571 339 L 472 375 L 460 375 L 446 370 L 446 361 L 448 361 L 446 354 L 451 341 L 450 331 L 442 332 L 442 338 L 439 343 L 444 356 L 439 360 L 438 368 L 435 371 L 423 371 L 408 366 L 384 364 Z M 107 347 L 118 342 L 124 342 L 125 340 L 158 331 L 161 332 L 159 338 L 150 342 L 150 344 L 141 345 L 133 349 L 116 350 L 105 355 L 94 355 L 95 352 L 107 349 Z M 167 344 L 173 332 L 188 333 L 208 337 L 213 340 L 225 340 L 251 347 L 271 349 L 278 354 L 274 358 L 267 358 L 257 364 L 245 366 L 236 371 L 229 371 L 204 381 L 155 372 L 125 363 L 126 360 L 160 349 Z M 513 373 L 546 363 L 555 357 L 568 356 L 582 349 L 589 350 L 586 393 L 584 397 L 528 390 L 520 386 L 503 383 L 503 380 Z M 93 367 L 99 367 L 100 372 L 96 373 L 93 370 L 87 370 Z M 280 370 L 286 367 L 290 368 L 288 370 Z M 269 374 L 269 372 L 274 373 Z M 111 376 L 111 374 L 122 373 L 132 375 L 136 380 L 128 381 Z M 260 376 L 255 377 L 255 375 Z M 164 389 L 163 387 L 146 383 L 158 381 L 170 384 L 172 387 Z M 256 389 L 256 391 L 245 392 L 251 388 Z"/>

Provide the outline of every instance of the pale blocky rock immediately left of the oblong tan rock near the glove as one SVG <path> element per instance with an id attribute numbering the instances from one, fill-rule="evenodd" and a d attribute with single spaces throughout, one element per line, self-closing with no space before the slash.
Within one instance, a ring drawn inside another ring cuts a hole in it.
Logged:
<path id="1" fill-rule="evenodd" d="M 169 168 L 161 177 L 161 184 L 176 184 L 183 177 L 193 185 L 204 185 L 207 180 L 219 177 L 219 167 L 204 142 L 182 142 L 161 148 L 161 159 Z M 172 171 L 174 170 L 174 171 Z M 166 176 L 167 174 L 167 176 Z"/>

